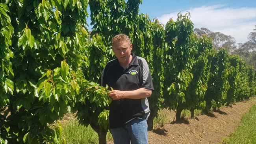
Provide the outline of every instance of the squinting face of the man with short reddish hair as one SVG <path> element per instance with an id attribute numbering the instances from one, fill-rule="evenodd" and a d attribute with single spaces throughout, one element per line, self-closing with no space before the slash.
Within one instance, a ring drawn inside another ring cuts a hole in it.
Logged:
<path id="1" fill-rule="evenodd" d="M 128 63 L 131 55 L 132 44 L 118 41 L 113 44 L 113 52 L 117 57 L 119 63 Z"/>

